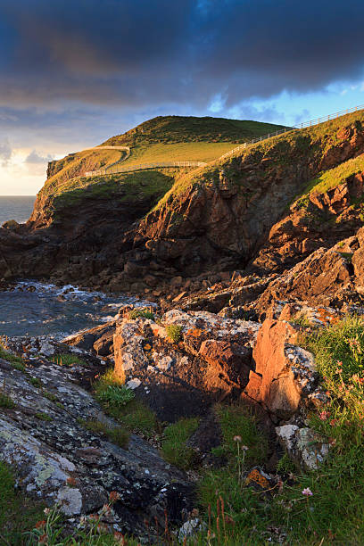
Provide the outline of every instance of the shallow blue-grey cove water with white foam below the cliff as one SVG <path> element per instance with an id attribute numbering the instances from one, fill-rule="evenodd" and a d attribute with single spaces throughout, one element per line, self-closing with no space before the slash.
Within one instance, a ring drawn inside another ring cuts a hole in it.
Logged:
<path id="1" fill-rule="evenodd" d="M 27 290 L 29 285 L 35 292 Z M 0 335 L 70 335 L 112 319 L 123 303 L 142 304 L 71 285 L 59 288 L 25 281 L 13 291 L 0 292 Z"/>

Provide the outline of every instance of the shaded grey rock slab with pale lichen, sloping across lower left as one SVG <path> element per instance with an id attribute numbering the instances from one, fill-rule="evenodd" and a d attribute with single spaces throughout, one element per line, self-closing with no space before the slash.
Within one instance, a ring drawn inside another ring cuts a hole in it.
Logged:
<path id="1" fill-rule="evenodd" d="M 180 522 L 181 510 L 191 508 L 186 476 L 134 434 L 122 449 L 85 427 L 117 426 L 79 385 L 79 376 L 95 376 L 95 368 L 37 356 L 25 360 L 25 371 L 7 364 L 0 366 L 0 388 L 13 407 L 0 409 L 0 459 L 15 467 L 24 492 L 78 517 L 101 509 L 116 491 L 113 524 L 129 534 L 144 534 L 145 519 L 163 525 L 165 509 Z"/>

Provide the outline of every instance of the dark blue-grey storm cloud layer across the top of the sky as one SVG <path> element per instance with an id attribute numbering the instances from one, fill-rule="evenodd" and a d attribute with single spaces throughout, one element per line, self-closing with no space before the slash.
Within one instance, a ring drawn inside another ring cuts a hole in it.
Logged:
<path id="1" fill-rule="evenodd" d="M 360 0 L 2 0 L 0 104 L 228 106 L 363 74 Z"/>

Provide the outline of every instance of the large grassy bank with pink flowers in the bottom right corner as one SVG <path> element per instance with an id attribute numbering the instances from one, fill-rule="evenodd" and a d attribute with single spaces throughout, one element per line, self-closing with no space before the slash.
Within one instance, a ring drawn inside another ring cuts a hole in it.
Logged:
<path id="1" fill-rule="evenodd" d="M 329 457 L 317 471 L 297 474 L 285 455 L 277 471 L 290 473 L 290 481 L 282 484 L 281 492 L 276 487 L 271 496 L 256 492 L 238 479 L 237 443 L 234 445 L 231 436 L 242 431 L 239 446 L 246 443 L 249 449 L 240 465 L 248 469 L 257 460 L 257 454 L 251 461 L 247 458 L 258 446 L 261 433 L 256 426 L 254 430 L 252 421 L 246 421 L 246 415 L 243 426 L 237 427 L 240 418 L 224 408 L 220 423 L 224 443 L 229 439 L 224 450 L 227 467 L 206 472 L 199 485 L 205 521 L 209 521 L 210 506 L 211 531 L 219 534 L 222 544 L 266 543 L 271 525 L 285 532 L 287 544 L 364 543 L 364 323 L 361 318 L 346 318 L 327 329 L 302 335 L 301 343 L 314 352 L 328 394 L 327 404 L 312 410 L 309 421 L 331 443 Z M 302 495 L 306 487 L 313 493 L 309 498 Z M 227 521 L 234 522 L 225 528 L 221 499 Z M 203 537 L 197 544 L 203 544 Z"/>

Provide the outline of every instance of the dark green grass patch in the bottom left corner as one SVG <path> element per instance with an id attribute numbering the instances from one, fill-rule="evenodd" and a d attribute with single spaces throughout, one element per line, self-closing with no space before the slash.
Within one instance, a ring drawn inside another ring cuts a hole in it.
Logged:
<path id="1" fill-rule="evenodd" d="M 0 543 L 25 546 L 28 540 L 24 533 L 44 519 L 43 509 L 43 504 L 15 490 L 11 467 L 0 461 Z"/>

